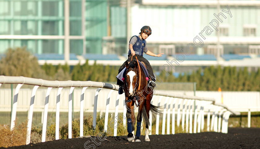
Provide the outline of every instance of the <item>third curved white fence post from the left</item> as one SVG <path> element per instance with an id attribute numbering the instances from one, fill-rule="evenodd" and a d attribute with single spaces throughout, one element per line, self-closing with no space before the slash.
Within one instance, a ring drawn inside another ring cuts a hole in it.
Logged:
<path id="1" fill-rule="evenodd" d="M 50 90 L 52 87 L 48 87 L 45 96 L 45 104 L 43 110 L 43 123 L 42 123 L 42 133 L 41 133 L 41 142 L 45 142 L 46 140 L 46 127 L 47 127 L 47 117 L 48 117 L 48 106 L 49 106 L 49 97 L 50 97 Z"/>

